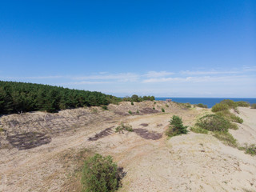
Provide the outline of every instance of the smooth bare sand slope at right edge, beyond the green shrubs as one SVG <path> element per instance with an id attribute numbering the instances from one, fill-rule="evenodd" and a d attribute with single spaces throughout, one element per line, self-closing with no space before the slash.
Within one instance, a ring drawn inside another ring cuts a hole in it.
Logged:
<path id="1" fill-rule="evenodd" d="M 238 107 L 240 118 L 244 120 L 238 124 L 238 130 L 230 130 L 230 133 L 241 145 L 256 143 L 256 110 L 248 107 Z"/>

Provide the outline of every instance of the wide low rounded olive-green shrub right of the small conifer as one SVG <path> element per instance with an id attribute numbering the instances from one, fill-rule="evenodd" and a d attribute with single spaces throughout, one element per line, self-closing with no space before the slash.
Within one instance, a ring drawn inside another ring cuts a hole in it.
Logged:
<path id="1" fill-rule="evenodd" d="M 202 118 L 199 118 L 195 125 L 205 130 L 227 132 L 231 123 L 216 114 L 206 114 Z"/>

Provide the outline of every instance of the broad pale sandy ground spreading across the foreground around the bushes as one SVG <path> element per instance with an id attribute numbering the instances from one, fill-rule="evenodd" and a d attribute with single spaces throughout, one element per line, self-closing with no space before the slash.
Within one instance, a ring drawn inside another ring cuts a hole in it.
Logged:
<path id="1" fill-rule="evenodd" d="M 148 108 L 144 115 L 122 115 L 128 114 L 130 104 L 110 106 L 107 119 L 91 117 L 75 131 L 53 135 L 46 145 L 0 150 L 0 191 L 74 191 L 69 181 L 78 154 L 85 149 L 110 154 L 124 167 L 120 191 L 255 191 L 255 157 L 224 146 L 211 135 L 190 133 L 171 139 L 164 135 L 173 114 L 191 126 L 205 110 L 170 105 L 168 113 L 146 114 L 153 102 L 142 108 L 137 105 L 138 109 L 131 108 L 134 112 Z M 155 108 L 161 110 L 165 105 L 159 102 Z M 250 125 L 251 118 L 244 120 Z M 134 132 L 114 133 L 120 122 L 129 123 Z M 99 134 L 108 128 L 108 134 Z"/>

